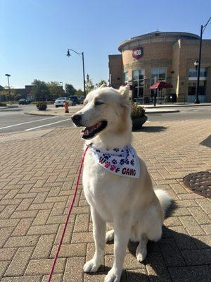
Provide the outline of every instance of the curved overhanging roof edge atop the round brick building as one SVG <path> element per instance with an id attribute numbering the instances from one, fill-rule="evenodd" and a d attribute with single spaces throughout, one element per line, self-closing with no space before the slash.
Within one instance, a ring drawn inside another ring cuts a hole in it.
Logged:
<path id="1" fill-rule="evenodd" d="M 178 39 L 200 39 L 198 35 L 195 35 L 194 33 L 189 32 L 162 32 L 160 30 L 146 33 L 146 35 L 139 35 L 136 37 L 129 38 L 127 40 L 124 40 L 120 43 L 118 50 L 122 51 L 122 47 L 124 47 L 125 44 L 130 44 L 132 42 L 135 42 L 137 40 L 141 39 L 148 39 L 148 38 L 154 38 L 154 37 L 172 37 L 176 40 Z"/>

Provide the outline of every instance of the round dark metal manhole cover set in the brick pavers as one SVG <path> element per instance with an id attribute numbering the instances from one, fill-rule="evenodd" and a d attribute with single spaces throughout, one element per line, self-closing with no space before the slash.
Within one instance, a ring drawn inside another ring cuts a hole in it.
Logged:
<path id="1" fill-rule="evenodd" d="M 187 188 L 204 197 L 211 197 L 211 172 L 200 171 L 188 174 L 183 178 Z"/>

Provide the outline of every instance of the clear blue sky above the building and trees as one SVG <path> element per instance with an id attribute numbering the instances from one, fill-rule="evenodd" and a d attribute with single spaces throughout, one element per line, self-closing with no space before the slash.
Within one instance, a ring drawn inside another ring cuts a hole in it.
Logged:
<path id="1" fill-rule="evenodd" d="M 32 80 L 63 81 L 82 88 L 85 73 L 94 83 L 108 80 L 108 54 L 124 39 L 155 30 L 199 34 L 211 16 L 210 0 L 0 0 L 0 85 Z M 211 25 L 203 34 L 211 39 Z"/>

